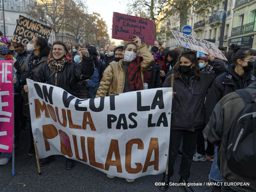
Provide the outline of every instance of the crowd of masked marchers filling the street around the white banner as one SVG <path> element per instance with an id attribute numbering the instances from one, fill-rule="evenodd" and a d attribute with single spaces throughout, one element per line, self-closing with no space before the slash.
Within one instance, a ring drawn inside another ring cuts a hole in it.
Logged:
<path id="1" fill-rule="evenodd" d="M 28 44 L 0 38 L 0 59 L 13 60 L 15 149 L 19 148 L 20 132 L 28 125 L 28 155 L 35 154 L 27 78 L 87 99 L 142 90 L 145 83 L 148 89 L 171 87 L 174 74 L 168 175 L 164 173 L 161 182 L 166 185 L 159 189 L 166 191 L 167 183 L 179 182 L 185 183 L 180 185 L 184 191 L 192 192 L 188 185 L 192 161 L 209 160 L 209 179 L 216 183 L 213 191 L 256 191 L 255 50 L 236 44 L 231 44 L 228 52 L 219 47 L 228 59 L 224 61 L 211 54 L 197 57 L 191 50 L 164 49 L 157 40 L 149 46 L 137 36 L 124 46 L 106 47 L 97 50 L 94 44 L 62 41 L 48 44 L 39 36 Z M 180 180 L 173 181 L 177 155 L 182 156 Z M 0 165 L 7 164 L 11 157 L 11 153 L 1 153 Z M 55 158 L 40 159 L 40 166 Z M 71 170 L 75 162 L 66 158 L 65 164 Z M 250 185 L 221 189 L 220 182 Z"/>

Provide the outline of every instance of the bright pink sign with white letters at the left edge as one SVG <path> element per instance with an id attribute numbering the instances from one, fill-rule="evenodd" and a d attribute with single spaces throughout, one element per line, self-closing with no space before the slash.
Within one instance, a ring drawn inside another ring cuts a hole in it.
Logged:
<path id="1" fill-rule="evenodd" d="M 0 60 L 0 152 L 12 153 L 12 60 Z"/>

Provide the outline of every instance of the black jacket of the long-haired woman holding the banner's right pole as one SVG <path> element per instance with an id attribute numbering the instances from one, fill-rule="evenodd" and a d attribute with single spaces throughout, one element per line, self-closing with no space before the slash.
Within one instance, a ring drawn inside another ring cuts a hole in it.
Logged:
<path id="1" fill-rule="evenodd" d="M 172 130 L 188 130 L 205 127 L 204 99 L 208 88 L 218 74 L 225 71 L 224 65 L 214 59 L 210 61 L 215 73 L 199 72 L 200 80 L 193 75 L 186 84 L 180 74 L 174 75 L 173 91 L 177 92 L 172 99 Z M 164 81 L 163 87 L 171 87 L 171 75 Z"/>

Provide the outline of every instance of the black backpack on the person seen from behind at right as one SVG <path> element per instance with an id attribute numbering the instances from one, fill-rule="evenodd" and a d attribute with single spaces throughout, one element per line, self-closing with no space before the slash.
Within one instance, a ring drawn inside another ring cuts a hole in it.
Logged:
<path id="1" fill-rule="evenodd" d="M 232 172 L 256 178 L 256 103 L 247 90 L 236 92 L 245 107 L 231 126 L 226 160 Z"/>

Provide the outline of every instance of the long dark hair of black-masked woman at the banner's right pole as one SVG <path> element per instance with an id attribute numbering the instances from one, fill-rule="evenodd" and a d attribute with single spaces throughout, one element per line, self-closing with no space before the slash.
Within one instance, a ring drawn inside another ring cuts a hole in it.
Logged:
<path id="1" fill-rule="evenodd" d="M 180 76 L 181 77 L 181 71 L 180 71 L 180 58 L 181 57 L 186 57 L 191 61 L 191 63 L 195 63 L 194 67 L 192 68 L 194 75 L 196 76 L 196 80 L 200 80 L 200 75 L 199 75 L 199 66 L 198 66 L 198 60 L 196 57 L 196 53 L 193 51 L 183 51 L 180 54 L 179 59 L 177 60 L 175 66 L 174 66 L 174 75 Z"/>

